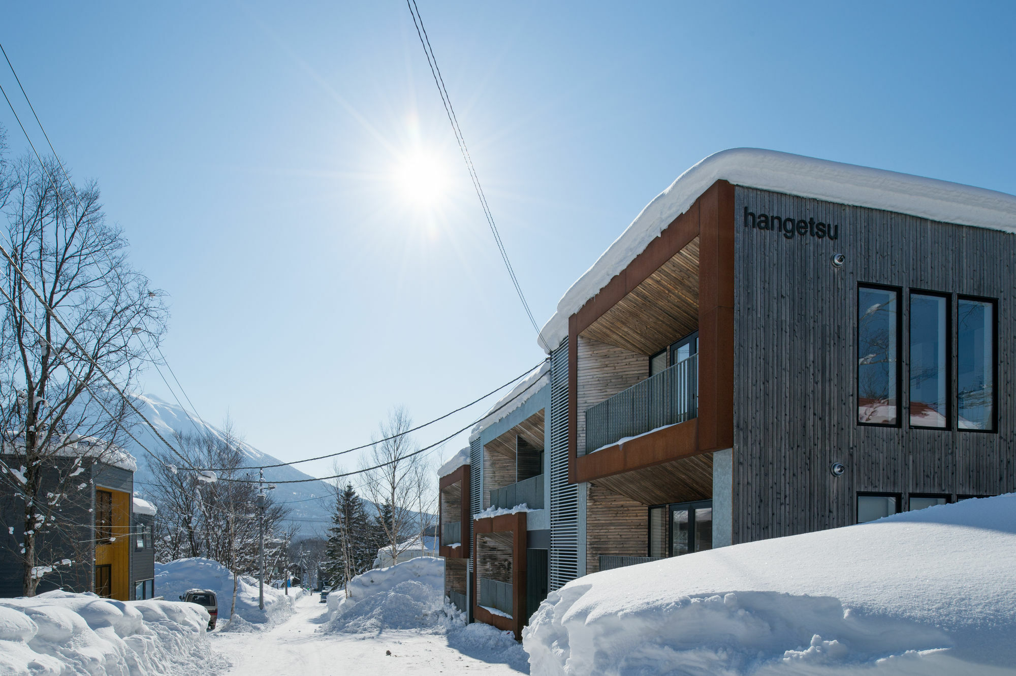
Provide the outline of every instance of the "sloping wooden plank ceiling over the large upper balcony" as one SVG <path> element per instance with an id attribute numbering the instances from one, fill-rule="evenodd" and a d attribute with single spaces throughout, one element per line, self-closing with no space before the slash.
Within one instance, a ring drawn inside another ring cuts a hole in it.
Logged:
<path id="1" fill-rule="evenodd" d="M 699 239 L 659 266 L 582 337 L 651 355 L 698 329 Z"/>

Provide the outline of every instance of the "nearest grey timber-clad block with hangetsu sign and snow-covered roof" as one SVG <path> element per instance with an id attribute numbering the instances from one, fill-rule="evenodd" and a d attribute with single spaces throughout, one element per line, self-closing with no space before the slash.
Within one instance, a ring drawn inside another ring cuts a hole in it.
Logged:
<path id="1" fill-rule="evenodd" d="M 1014 232 L 1016 197 L 892 172 L 683 174 L 542 332 L 550 589 L 1016 489 Z"/>

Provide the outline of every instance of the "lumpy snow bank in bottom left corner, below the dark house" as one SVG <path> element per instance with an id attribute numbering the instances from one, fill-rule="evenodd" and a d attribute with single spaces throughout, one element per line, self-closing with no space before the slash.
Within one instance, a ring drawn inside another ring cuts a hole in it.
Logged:
<path id="1" fill-rule="evenodd" d="M 47 592 L 0 599 L 0 673 L 17 676 L 207 674 L 224 666 L 193 604 Z"/>

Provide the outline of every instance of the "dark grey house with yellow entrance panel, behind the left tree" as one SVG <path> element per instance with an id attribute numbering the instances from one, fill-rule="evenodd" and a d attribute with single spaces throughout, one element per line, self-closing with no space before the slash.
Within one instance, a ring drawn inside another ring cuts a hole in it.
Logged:
<path id="1" fill-rule="evenodd" d="M 10 468 L 22 466 L 23 459 L 0 455 Z M 60 476 L 71 476 L 73 481 L 65 482 L 68 496 L 51 515 L 61 526 L 37 538 L 38 564 L 54 567 L 43 578 L 38 593 L 64 589 L 120 601 L 154 596 L 151 533 L 155 510 L 133 498 L 134 458 L 118 447 L 82 436 L 62 449 L 52 465 L 43 478 L 43 494 L 47 486 L 60 485 Z M 0 597 L 17 597 L 22 593 L 22 570 L 11 548 L 22 540 L 23 502 L 16 491 L 0 495 L 0 519 L 8 531 L 2 535 L 8 541 L 0 547 Z"/>

